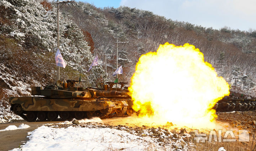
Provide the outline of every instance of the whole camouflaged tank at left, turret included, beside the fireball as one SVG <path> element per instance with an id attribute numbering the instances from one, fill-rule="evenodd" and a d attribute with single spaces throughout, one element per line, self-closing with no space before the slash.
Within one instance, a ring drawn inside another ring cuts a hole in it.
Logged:
<path id="1" fill-rule="evenodd" d="M 53 86 L 32 87 L 32 96 L 10 97 L 11 110 L 32 122 L 46 120 L 109 118 L 131 115 L 128 92 L 75 87 L 78 81 L 57 81 Z M 129 103 L 129 104 L 128 104 Z M 60 117 L 60 119 L 58 118 Z"/>

